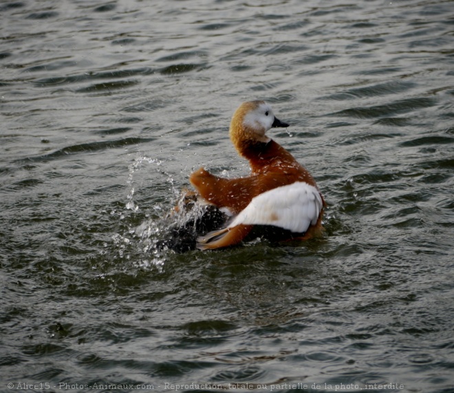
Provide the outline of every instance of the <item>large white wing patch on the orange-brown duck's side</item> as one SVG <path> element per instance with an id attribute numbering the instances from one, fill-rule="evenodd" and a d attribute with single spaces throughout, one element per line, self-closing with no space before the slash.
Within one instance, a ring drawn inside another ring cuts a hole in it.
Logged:
<path id="1" fill-rule="evenodd" d="M 303 233 L 311 224 L 316 224 L 322 207 L 318 189 L 296 182 L 257 195 L 228 228 L 240 224 L 273 225 Z"/>

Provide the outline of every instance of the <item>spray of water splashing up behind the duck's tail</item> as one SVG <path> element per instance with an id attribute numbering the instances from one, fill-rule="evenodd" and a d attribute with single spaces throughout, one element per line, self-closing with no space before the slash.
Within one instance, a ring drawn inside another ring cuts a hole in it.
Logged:
<path id="1" fill-rule="evenodd" d="M 160 184 L 170 184 L 170 192 L 158 195 L 160 202 L 144 209 L 136 200 L 144 182 L 139 180 L 139 172 L 146 168 L 149 173 L 150 165 L 158 171 Z M 217 229 L 226 220 L 226 215 L 213 206 L 199 204 L 195 194 L 181 191 L 164 166 L 162 160 L 147 156 L 138 156 L 129 165 L 127 184 L 130 189 L 125 211 L 120 213 L 120 220 L 127 225 L 127 230 L 116 233 L 112 240 L 116 255 L 138 268 L 153 267 L 162 271 L 170 253 L 195 249 L 198 235 Z M 141 220 L 139 224 L 138 219 Z"/>

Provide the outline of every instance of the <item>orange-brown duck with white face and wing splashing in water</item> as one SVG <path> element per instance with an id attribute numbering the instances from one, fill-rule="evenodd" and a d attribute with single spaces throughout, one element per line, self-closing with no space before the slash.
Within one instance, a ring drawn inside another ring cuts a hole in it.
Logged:
<path id="1" fill-rule="evenodd" d="M 220 228 L 197 237 L 199 250 L 239 244 L 256 227 L 279 232 L 279 241 L 323 235 L 323 195 L 309 171 L 266 134 L 274 127 L 289 124 L 274 116 L 268 103 L 241 103 L 229 136 L 239 156 L 249 161 L 249 176 L 221 178 L 203 167 L 189 176 L 197 198 L 230 217 Z"/>

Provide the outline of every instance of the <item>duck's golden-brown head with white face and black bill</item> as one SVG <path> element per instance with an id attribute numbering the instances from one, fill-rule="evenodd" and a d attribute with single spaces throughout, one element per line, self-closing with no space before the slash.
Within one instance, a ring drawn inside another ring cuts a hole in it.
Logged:
<path id="1" fill-rule="evenodd" d="M 271 106 L 265 101 L 248 101 L 233 114 L 230 139 L 241 151 L 242 146 L 250 143 L 270 142 L 266 131 L 272 127 L 288 127 L 288 124 L 274 116 Z"/>

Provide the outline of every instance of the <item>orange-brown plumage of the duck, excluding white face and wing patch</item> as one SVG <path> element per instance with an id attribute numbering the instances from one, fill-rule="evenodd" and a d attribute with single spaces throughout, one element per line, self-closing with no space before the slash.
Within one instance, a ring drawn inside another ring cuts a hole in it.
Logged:
<path id="1" fill-rule="evenodd" d="M 263 131 L 259 127 L 250 127 L 247 119 L 245 120 L 247 114 L 260 103 L 262 102 L 252 101 L 241 105 L 230 124 L 230 139 L 238 153 L 249 161 L 250 176 L 236 179 L 219 178 L 200 168 L 189 178 L 202 198 L 219 208 L 226 207 L 235 214 L 245 209 L 252 198 L 265 191 L 294 182 L 305 182 L 316 187 L 310 173 L 292 154 L 265 135 L 266 129 Z M 317 224 L 306 232 L 305 239 L 323 230 L 322 215 L 323 211 L 318 217 Z M 239 225 L 229 229 L 229 233 L 221 240 L 212 242 L 205 248 L 236 244 L 248 235 L 251 228 L 251 225 Z"/>

